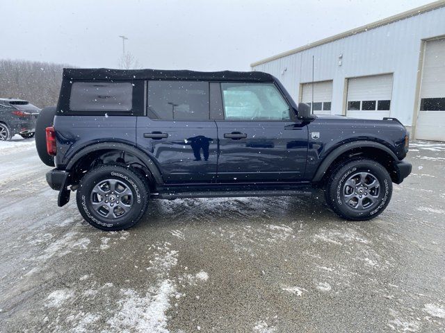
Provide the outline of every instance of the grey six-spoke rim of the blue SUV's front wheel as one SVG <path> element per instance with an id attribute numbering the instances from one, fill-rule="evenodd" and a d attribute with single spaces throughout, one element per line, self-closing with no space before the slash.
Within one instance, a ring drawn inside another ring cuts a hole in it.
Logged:
<path id="1" fill-rule="evenodd" d="M 357 172 L 343 185 L 343 200 L 355 210 L 367 210 L 378 203 L 380 182 L 369 172 Z"/>

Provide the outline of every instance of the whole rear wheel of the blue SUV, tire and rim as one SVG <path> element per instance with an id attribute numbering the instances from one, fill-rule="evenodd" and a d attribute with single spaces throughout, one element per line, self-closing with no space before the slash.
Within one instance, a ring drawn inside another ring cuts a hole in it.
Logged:
<path id="1" fill-rule="evenodd" d="M 138 223 L 147 210 L 149 189 L 136 171 L 101 165 L 86 173 L 77 189 L 83 219 L 102 230 L 124 230 Z"/>

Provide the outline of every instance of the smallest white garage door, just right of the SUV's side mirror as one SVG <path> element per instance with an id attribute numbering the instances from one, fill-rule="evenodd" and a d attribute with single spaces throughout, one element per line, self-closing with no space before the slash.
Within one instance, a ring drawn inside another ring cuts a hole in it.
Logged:
<path id="1" fill-rule="evenodd" d="M 312 83 L 303 83 L 301 101 L 312 105 Z M 332 80 L 314 83 L 314 114 L 331 114 Z"/>

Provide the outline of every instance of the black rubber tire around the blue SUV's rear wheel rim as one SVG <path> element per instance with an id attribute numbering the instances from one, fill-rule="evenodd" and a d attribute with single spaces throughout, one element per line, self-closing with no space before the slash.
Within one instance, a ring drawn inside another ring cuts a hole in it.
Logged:
<path id="1" fill-rule="evenodd" d="M 118 182 L 131 190 L 133 204 L 129 212 L 126 212 L 121 217 L 107 218 L 93 208 L 94 202 L 91 198 L 94 194 L 92 192 L 94 189 L 97 189 L 96 185 L 100 185 L 101 182 L 106 180 L 118 180 Z M 83 176 L 77 189 L 76 201 L 83 219 L 93 227 L 106 231 L 124 230 L 138 223 L 145 214 L 149 201 L 149 187 L 137 171 L 122 167 L 121 165 L 104 164 L 88 171 Z"/>

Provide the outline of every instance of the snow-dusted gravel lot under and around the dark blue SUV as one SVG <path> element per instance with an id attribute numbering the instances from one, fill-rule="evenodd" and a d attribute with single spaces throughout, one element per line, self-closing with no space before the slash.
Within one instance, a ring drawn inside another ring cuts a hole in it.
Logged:
<path id="1" fill-rule="evenodd" d="M 445 144 L 387 210 L 322 198 L 153 201 L 124 232 L 58 208 L 33 140 L 0 142 L 1 332 L 445 332 Z"/>

